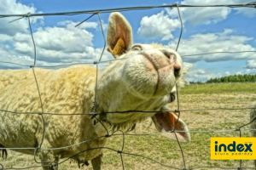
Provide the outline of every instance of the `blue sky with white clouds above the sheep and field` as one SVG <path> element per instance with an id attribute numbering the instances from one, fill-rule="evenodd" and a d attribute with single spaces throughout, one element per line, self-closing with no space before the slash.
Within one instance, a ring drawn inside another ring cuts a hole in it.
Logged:
<path id="1" fill-rule="evenodd" d="M 236 4 L 248 0 L 97 0 L 32 1 L 0 0 L 0 14 L 37 14 L 80 10 L 152 6 L 163 4 Z M 188 69 L 187 82 L 235 74 L 256 74 L 256 53 L 204 54 L 256 51 L 256 8 L 179 8 L 183 35 L 177 52 Z M 181 26 L 177 8 L 153 8 L 122 12 L 130 22 L 135 43 L 160 43 L 176 48 Z M 90 14 L 31 17 L 37 47 L 37 65 L 65 65 L 99 59 L 104 45 L 98 16 L 82 25 Z M 109 14 L 100 14 L 107 35 Z M 25 69 L 34 61 L 32 38 L 26 18 L 0 18 L 0 69 Z M 186 56 L 190 54 L 204 54 Z M 105 51 L 102 60 L 113 59 Z"/>

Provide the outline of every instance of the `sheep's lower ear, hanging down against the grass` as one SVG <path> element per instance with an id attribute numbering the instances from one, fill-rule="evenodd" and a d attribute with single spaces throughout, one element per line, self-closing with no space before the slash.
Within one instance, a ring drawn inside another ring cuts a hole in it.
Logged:
<path id="1" fill-rule="evenodd" d="M 180 142 L 190 141 L 189 128 L 181 120 L 181 118 L 177 118 L 177 115 L 175 113 L 156 113 L 152 117 L 152 120 L 156 129 L 168 139 L 178 139 L 178 141 Z M 177 131 L 176 135 L 171 132 L 174 128 Z"/>

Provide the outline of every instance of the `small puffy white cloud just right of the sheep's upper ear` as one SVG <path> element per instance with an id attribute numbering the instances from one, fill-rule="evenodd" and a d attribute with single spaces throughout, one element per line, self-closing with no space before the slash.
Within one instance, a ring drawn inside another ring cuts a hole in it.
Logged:
<path id="1" fill-rule="evenodd" d="M 159 14 L 143 17 L 137 34 L 147 38 L 162 37 L 162 40 L 172 39 L 172 31 L 180 26 L 180 22 L 177 19 L 170 19 L 165 13 L 165 11 L 161 11 Z"/>

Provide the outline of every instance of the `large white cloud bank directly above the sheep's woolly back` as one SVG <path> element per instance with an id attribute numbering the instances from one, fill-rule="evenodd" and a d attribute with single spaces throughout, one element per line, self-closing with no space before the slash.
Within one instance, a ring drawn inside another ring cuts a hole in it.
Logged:
<path id="1" fill-rule="evenodd" d="M 93 34 L 83 27 L 73 27 L 73 22 L 68 22 L 65 27 L 45 27 L 39 28 L 33 33 L 37 47 L 37 64 L 49 65 L 73 62 L 93 62 L 99 59 L 102 48 L 93 48 Z M 86 23 L 85 23 L 86 24 Z M 95 26 L 91 25 L 92 28 Z M 1 53 L 0 60 L 15 63 L 28 63 L 31 65 L 33 59 L 33 45 L 29 34 L 17 33 L 15 37 L 5 36 L 0 38 L 0 42 L 9 42 L 13 46 L 13 51 Z M 9 57 L 7 57 L 9 56 Z M 15 56 L 15 57 L 13 57 Z M 30 56 L 25 59 L 24 56 Z M 112 59 L 110 54 L 104 54 L 103 59 Z M 20 61 L 22 60 L 22 61 Z"/>

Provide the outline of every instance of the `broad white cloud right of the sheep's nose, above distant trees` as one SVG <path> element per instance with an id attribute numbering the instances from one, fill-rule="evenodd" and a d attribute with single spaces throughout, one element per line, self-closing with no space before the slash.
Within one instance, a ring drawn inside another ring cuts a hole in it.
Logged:
<path id="1" fill-rule="evenodd" d="M 223 68 L 212 71 L 211 69 L 202 69 L 201 64 L 195 64 L 197 61 L 220 61 L 220 60 L 236 60 L 249 59 L 247 61 L 247 69 L 237 71 L 236 74 L 255 74 L 256 73 L 256 53 L 240 53 L 240 54 L 204 54 L 211 52 L 235 52 L 235 51 L 255 51 L 256 49 L 248 44 L 253 40 L 252 37 L 238 36 L 236 32 L 226 29 L 218 33 L 195 34 L 187 39 L 182 39 L 178 53 L 183 57 L 184 68 L 189 71 L 185 80 L 188 82 L 206 82 L 210 78 L 230 76 L 230 71 L 224 71 Z M 166 47 L 176 48 L 177 39 L 170 42 Z M 186 54 L 204 54 L 199 56 L 183 56 Z M 187 63 L 189 62 L 189 63 Z M 195 66 L 196 65 L 196 66 Z M 216 66 L 218 66 L 216 64 Z"/>

